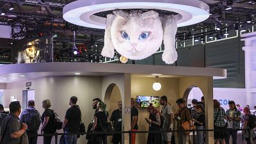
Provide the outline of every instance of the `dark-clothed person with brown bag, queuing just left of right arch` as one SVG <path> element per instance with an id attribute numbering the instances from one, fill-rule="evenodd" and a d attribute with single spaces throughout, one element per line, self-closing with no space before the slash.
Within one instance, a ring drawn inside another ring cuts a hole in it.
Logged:
<path id="1" fill-rule="evenodd" d="M 185 106 L 184 99 L 176 100 L 176 103 L 179 107 L 179 110 L 174 114 L 175 120 L 177 120 L 177 131 L 179 135 L 179 144 L 188 144 L 189 143 L 189 134 L 186 134 L 184 128 L 182 127 L 182 122 L 188 121 L 189 126 L 193 127 L 193 122 L 188 108 Z"/>

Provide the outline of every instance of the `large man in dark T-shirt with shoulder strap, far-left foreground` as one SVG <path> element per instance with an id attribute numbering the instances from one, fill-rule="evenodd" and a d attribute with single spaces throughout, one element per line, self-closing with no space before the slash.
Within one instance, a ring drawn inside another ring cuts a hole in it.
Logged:
<path id="1" fill-rule="evenodd" d="M 28 125 L 19 121 L 20 102 L 11 102 L 9 108 L 10 113 L 1 124 L 1 144 L 28 144 Z"/>

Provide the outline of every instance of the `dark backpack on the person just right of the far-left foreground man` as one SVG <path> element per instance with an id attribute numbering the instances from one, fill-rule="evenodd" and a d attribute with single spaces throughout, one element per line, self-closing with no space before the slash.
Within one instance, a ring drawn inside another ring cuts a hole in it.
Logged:
<path id="1" fill-rule="evenodd" d="M 41 124 L 41 116 L 36 109 L 26 109 L 28 113 L 23 115 L 24 123 L 28 125 L 28 131 L 38 131 Z"/>

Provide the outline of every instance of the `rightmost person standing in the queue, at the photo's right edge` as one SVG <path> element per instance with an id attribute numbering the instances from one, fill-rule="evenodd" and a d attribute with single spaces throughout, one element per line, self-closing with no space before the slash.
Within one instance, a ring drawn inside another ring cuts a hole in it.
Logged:
<path id="1" fill-rule="evenodd" d="M 243 109 L 244 116 L 242 118 L 243 122 L 243 129 L 250 129 L 250 138 L 255 138 L 255 133 L 254 130 L 249 127 L 249 116 L 251 115 L 250 109 L 247 107 L 244 107 Z M 251 144 L 251 139 L 249 138 L 249 132 L 248 131 L 243 131 L 242 132 L 244 139 L 246 140 L 246 144 Z"/>

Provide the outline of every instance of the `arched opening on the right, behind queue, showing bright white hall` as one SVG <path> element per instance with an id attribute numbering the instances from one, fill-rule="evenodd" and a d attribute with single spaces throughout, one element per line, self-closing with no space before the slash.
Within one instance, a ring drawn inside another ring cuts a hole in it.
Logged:
<path id="1" fill-rule="evenodd" d="M 198 102 L 201 101 L 201 97 L 204 96 L 204 93 L 200 88 L 197 86 L 189 86 L 186 91 L 184 92 L 183 99 L 186 99 L 186 106 L 188 108 L 192 107 L 192 99 L 198 100 Z"/>

